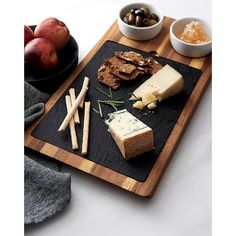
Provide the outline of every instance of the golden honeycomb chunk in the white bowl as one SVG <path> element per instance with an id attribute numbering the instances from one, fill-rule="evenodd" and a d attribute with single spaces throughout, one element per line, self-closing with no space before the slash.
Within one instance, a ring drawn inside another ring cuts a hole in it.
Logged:
<path id="1" fill-rule="evenodd" d="M 192 21 L 187 24 L 179 38 L 184 42 L 192 44 L 206 43 L 211 40 L 204 32 L 199 21 Z"/>

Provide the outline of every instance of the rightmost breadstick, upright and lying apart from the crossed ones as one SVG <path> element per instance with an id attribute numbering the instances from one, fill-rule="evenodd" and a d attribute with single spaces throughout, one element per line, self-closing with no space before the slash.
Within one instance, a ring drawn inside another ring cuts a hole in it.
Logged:
<path id="1" fill-rule="evenodd" d="M 87 154 L 87 152 L 88 152 L 89 119 L 90 119 L 90 102 L 85 102 L 85 104 L 84 104 L 83 143 L 82 143 L 82 154 L 83 155 Z"/>

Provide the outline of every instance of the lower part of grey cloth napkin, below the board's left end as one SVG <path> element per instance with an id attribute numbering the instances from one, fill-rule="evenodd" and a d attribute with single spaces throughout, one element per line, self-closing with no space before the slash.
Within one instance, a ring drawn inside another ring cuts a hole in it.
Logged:
<path id="1" fill-rule="evenodd" d="M 71 198 L 70 174 L 49 169 L 25 156 L 25 224 L 60 212 Z"/>

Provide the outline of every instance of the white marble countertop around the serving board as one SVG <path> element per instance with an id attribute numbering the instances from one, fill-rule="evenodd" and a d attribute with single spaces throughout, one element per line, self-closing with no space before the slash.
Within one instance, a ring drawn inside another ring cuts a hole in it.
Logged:
<path id="1" fill-rule="evenodd" d="M 64 21 L 77 40 L 81 61 L 117 17 L 128 0 L 47 1 L 37 11 L 32 1 L 24 24 L 55 16 Z M 211 1 L 159 0 L 164 14 L 173 18 L 197 16 L 211 23 Z M 39 6 L 40 5 L 40 6 Z M 25 227 L 27 236 L 210 236 L 212 89 L 202 100 L 152 199 L 143 199 L 74 168 L 70 205 L 59 215 Z"/>

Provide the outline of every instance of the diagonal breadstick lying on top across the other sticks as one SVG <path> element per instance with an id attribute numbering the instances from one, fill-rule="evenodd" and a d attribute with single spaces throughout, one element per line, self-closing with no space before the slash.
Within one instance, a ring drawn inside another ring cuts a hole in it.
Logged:
<path id="1" fill-rule="evenodd" d="M 73 103 L 70 111 L 67 113 L 65 119 L 63 120 L 61 126 L 59 127 L 58 131 L 65 130 L 67 125 L 69 124 L 70 120 L 72 119 L 76 109 L 78 108 L 79 104 L 81 103 L 82 99 L 85 97 L 86 92 L 88 90 L 88 87 L 83 87 L 78 95 L 78 97 L 75 99 L 75 102 Z"/>

